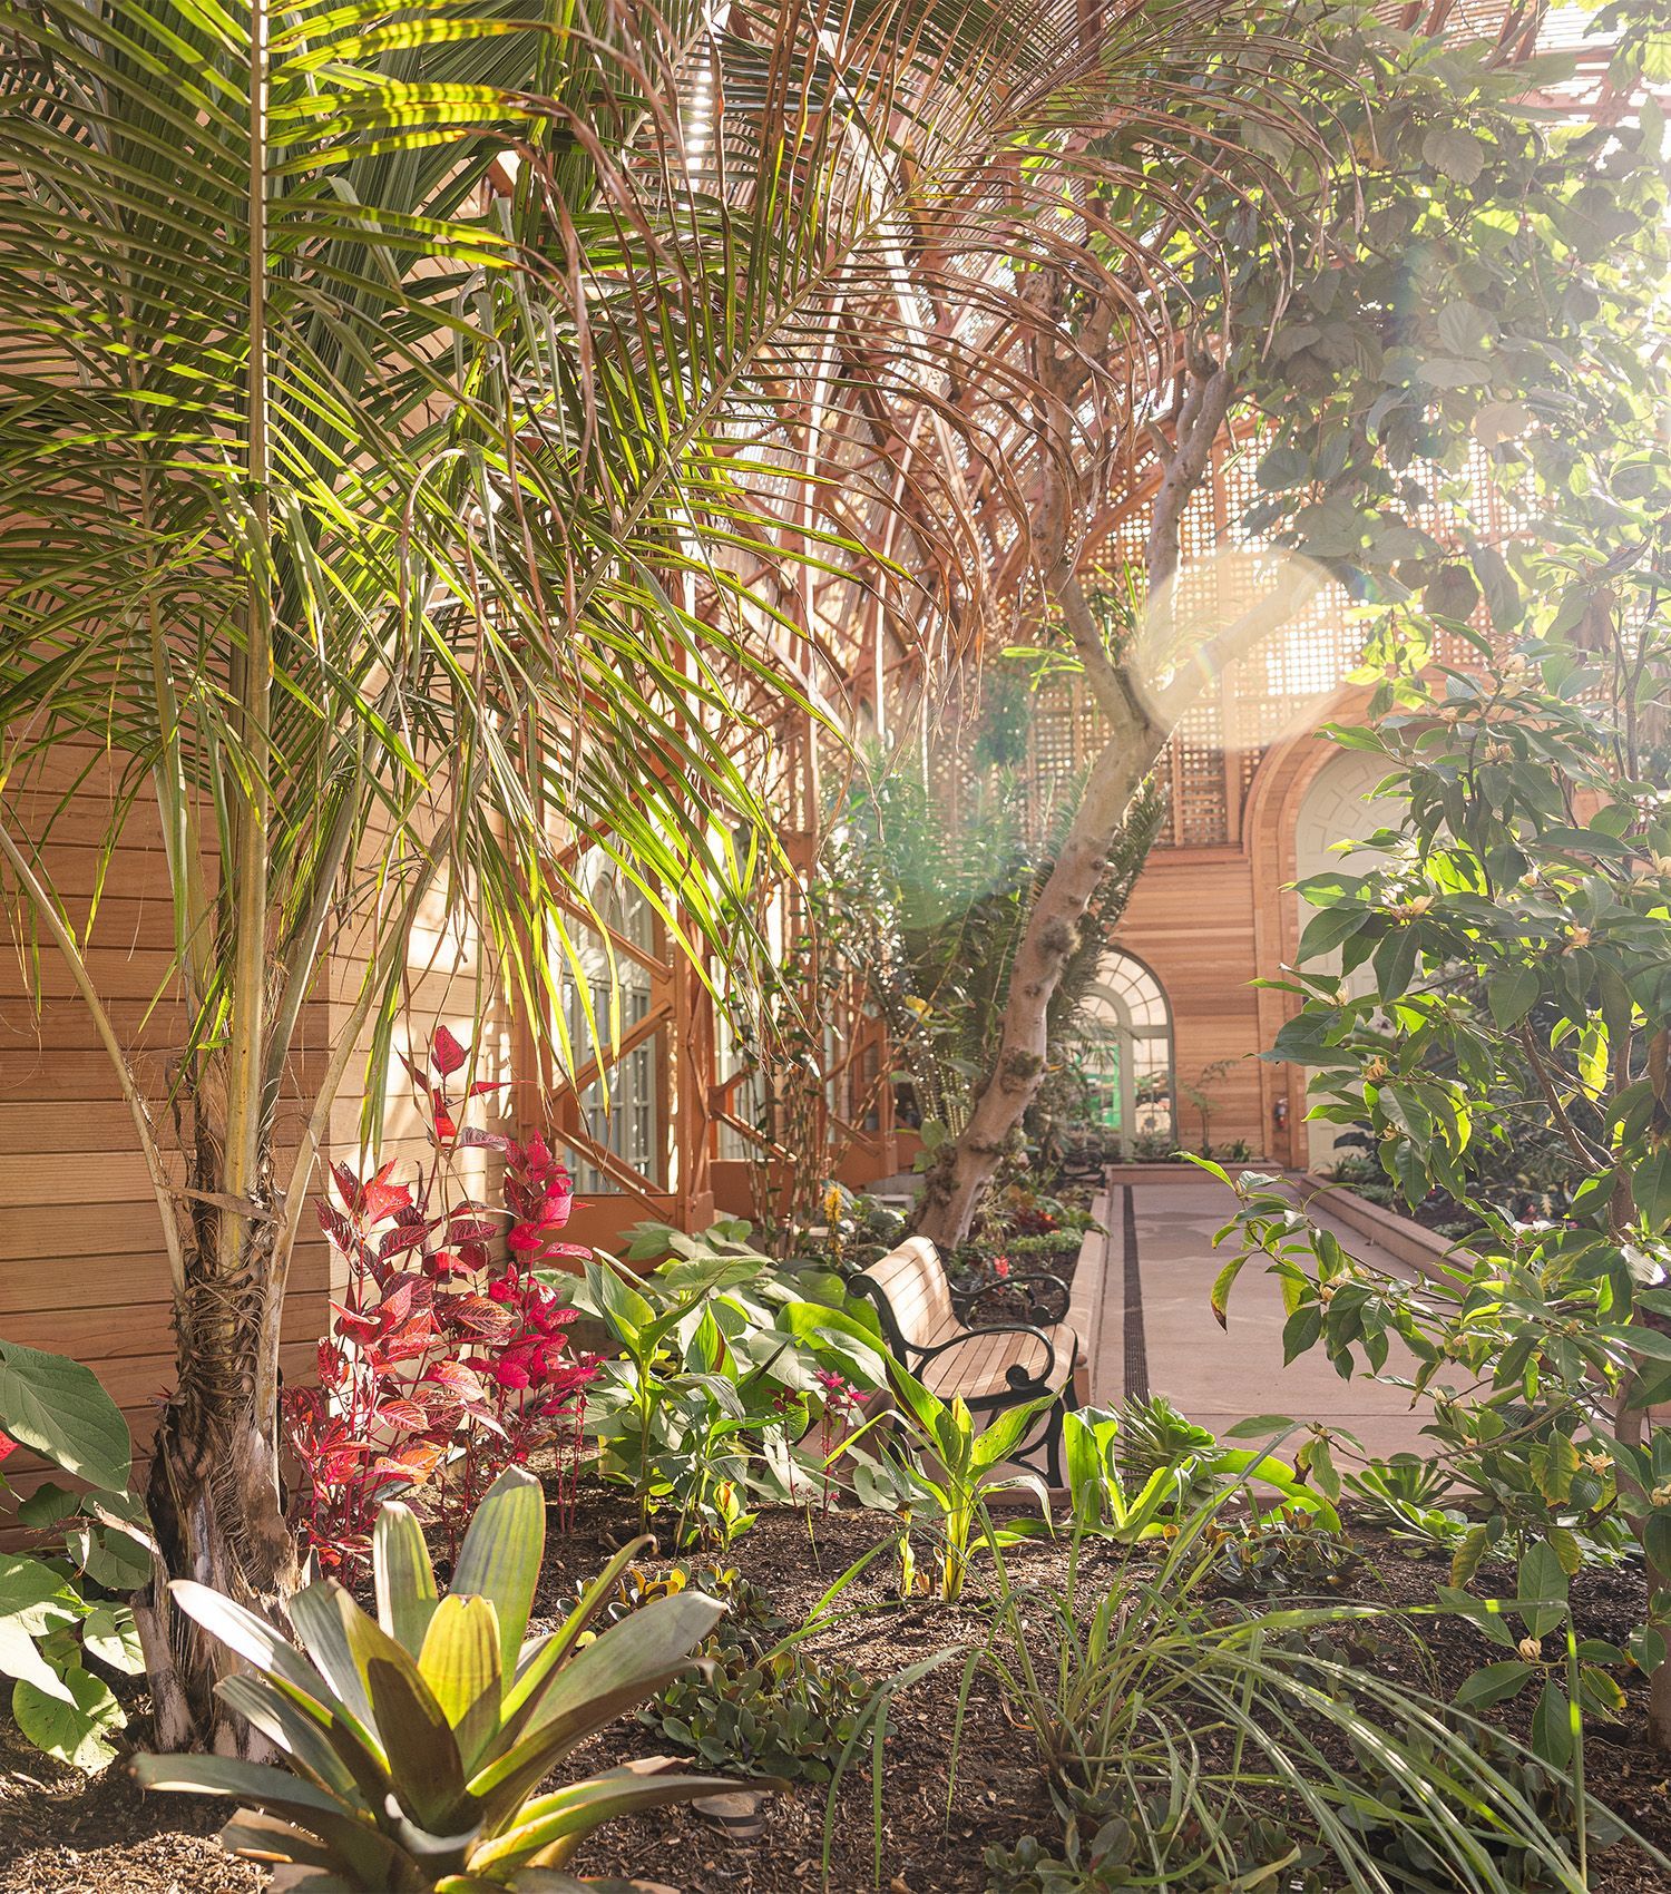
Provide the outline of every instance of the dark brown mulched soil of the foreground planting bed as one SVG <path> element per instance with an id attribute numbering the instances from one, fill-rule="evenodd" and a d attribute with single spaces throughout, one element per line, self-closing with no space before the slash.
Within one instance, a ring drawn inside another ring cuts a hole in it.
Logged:
<path id="1" fill-rule="evenodd" d="M 542 1608 L 557 1612 L 580 1581 L 631 1530 L 623 1508 L 589 1500 L 574 1532 L 549 1546 Z M 724 1563 L 760 1585 L 788 1617 L 805 1614 L 841 1572 L 883 1536 L 871 1513 L 765 1513 Z M 1423 1604 L 1444 1581 L 1444 1566 L 1415 1561 L 1379 1534 L 1358 1536 L 1364 1559 L 1338 1587 L 1372 1602 Z M 1017 1580 L 1059 1585 L 1063 1546 L 1036 1542 L 1012 1555 Z M 1093 1551 L 1084 1574 L 1112 1572 L 1114 1555 Z M 890 1597 L 892 1566 L 875 1561 L 847 1593 L 862 1606 L 826 1633 L 817 1650 L 856 1663 L 881 1680 L 942 1650 L 979 1642 L 987 1619 L 989 1572 L 978 1566 L 968 1600 L 959 1606 L 902 1604 Z M 1635 1572 L 1591 1572 L 1574 1585 L 1580 1633 L 1622 1640 L 1641 1610 Z M 1438 1688 L 1451 1691 L 1485 1653 L 1478 1633 L 1457 1619 L 1423 1619 Z M 1402 1648 L 1396 1640 L 1389 1650 Z M 1491 1653 L 1497 1655 L 1497 1653 Z M 1417 1665 L 1411 1659 L 1411 1680 Z M 1006 1720 L 981 1680 L 964 1720 L 957 1773 L 951 1775 L 951 1729 L 961 1665 L 949 1663 L 904 1691 L 892 1712 L 883 1767 L 881 1877 L 875 1881 L 871 1782 L 854 1769 L 836 1794 L 830 1830 L 830 1888 L 841 1894 L 881 1886 L 890 1894 L 983 1894 L 983 1850 L 1025 1833 L 1053 1835 L 1055 1818 L 1029 1731 Z M 142 1705 L 131 1735 L 142 1739 Z M 1502 1712 L 1514 1733 L 1525 1718 Z M 665 1746 L 665 1744 L 661 1744 Z M 595 1739 L 576 1769 L 604 1767 L 652 1754 L 657 1739 L 625 1722 Z M 1662 1849 L 1671 1845 L 1671 1765 L 1644 1742 L 1643 1689 L 1629 1689 L 1626 1722 L 1590 1733 L 1590 1777 L 1595 1792 Z M 667 1811 L 599 1830 L 580 1867 L 585 1873 L 633 1873 L 684 1894 L 803 1894 L 818 1888 L 824 1852 L 822 1788 L 800 1786 L 767 1803 L 764 1835 L 731 1841 L 692 1811 Z M 184 1796 L 142 1796 L 119 1765 L 85 1780 L 55 1769 L 0 1724 L 0 1894 L 256 1894 L 265 1877 L 220 1854 L 212 1835 L 225 1805 Z M 1663 1894 L 1665 1881 L 1641 1854 L 1612 1849 L 1591 1867 L 1593 1894 Z"/>

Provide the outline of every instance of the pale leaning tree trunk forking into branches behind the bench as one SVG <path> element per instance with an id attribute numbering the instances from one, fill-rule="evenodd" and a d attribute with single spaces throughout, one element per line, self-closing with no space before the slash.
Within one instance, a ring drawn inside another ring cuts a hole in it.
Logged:
<path id="1" fill-rule="evenodd" d="M 1144 549 L 1148 599 L 1165 610 L 1167 587 L 1178 566 L 1184 508 L 1213 462 L 1213 443 L 1235 394 L 1228 369 L 1195 356 L 1182 371 L 1182 396 L 1171 417 L 1171 443 L 1161 451 L 1161 483 L 1150 513 Z M 1061 390 L 1072 396 L 1076 390 Z M 1288 570 L 1266 597 L 1224 627 L 1195 663 L 1180 665 L 1159 689 L 1148 689 L 1129 657 L 1108 652 L 1078 580 L 1076 549 L 1069 551 L 1063 521 L 1067 496 L 1057 489 L 1040 508 L 1040 538 L 1055 544 L 1050 593 L 1061 608 L 1086 682 L 1108 725 L 1097 761 L 1086 778 L 1067 841 L 1038 894 L 1010 974 L 1010 992 L 998 1049 L 962 1133 L 949 1140 L 928 1172 L 915 1227 L 942 1246 L 968 1237 L 981 1199 L 1004 1153 L 1017 1146 L 1021 1121 L 1044 1080 L 1050 1044 L 1050 1004 L 1080 945 L 1080 928 L 1108 860 L 1131 814 L 1133 799 L 1159 761 L 1178 718 L 1233 657 L 1252 650 L 1286 623 L 1321 585 L 1311 570 Z M 1167 640 L 1159 640 L 1165 646 Z"/>

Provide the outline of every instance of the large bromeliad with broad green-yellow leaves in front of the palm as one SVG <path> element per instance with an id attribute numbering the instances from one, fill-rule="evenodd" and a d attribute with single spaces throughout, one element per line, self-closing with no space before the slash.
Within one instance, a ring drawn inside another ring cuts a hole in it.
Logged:
<path id="1" fill-rule="evenodd" d="M 148 1788 L 244 1803 L 222 1833 L 248 1860 L 314 1869 L 309 1888 L 483 1894 L 587 1886 L 565 1869 L 601 1822 L 731 1788 L 663 1758 L 544 1796 L 540 1782 L 604 1724 L 663 1689 L 726 1608 L 699 1591 L 656 1599 L 587 1640 L 638 1546 L 587 1587 L 557 1631 L 527 1638 L 546 1544 L 538 1481 L 508 1468 L 481 1502 L 445 1599 L 417 1515 L 377 1515 L 377 1616 L 335 1581 L 290 1600 L 299 1648 L 231 1599 L 178 1580 L 180 1606 L 252 1667 L 222 1701 L 290 1771 L 222 1756 L 140 1756 Z M 530 1869 L 549 1869 L 519 1881 Z"/>

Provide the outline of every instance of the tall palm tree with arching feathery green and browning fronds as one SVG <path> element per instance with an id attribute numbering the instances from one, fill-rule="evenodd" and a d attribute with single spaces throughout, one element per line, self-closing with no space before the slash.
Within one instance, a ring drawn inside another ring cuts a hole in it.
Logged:
<path id="1" fill-rule="evenodd" d="M 1159 11 L 1186 36 L 1222 8 Z M 1078 241 L 1116 97 L 1087 21 L 11 9 L 0 858 L 91 1011 L 163 1220 L 178 1386 L 138 1606 L 163 1744 L 235 1737 L 161 1580 L 278 1610 L 297 1578 L 286 1271 L 368 1055 L 375 1117 L 421 907 L 474 926 L 559 1038 L 546 943 L 585 911 L 582 847 L 676 939 L 746 962 L 773 824 L 735 754 L 843 659 L 805 574 L 896 623 L 904 600 L 926 650 L 978 616 L 966 581 L 915 591 L 875 542 L 966 564 L 968 475 L 1023 392 L 981 339 L 1029 320 L 1015 259 L 1089 280 L 1141 250 Z M 1044 455 L 1070 447 L 1069 419 Z M 138 803 L 161 822 L 186 1021 L 165 1093 L 25 813 L 72 742 L 108 759 L 108 850 Z M 364 977 L 292 1150 L 275 1112 L 349 934 Z"/>

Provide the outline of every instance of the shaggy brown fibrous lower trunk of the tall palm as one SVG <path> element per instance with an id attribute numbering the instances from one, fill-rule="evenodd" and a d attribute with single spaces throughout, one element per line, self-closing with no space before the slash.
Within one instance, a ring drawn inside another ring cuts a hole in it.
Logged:
<path id="1" fill-rule="evenodd" d="M 135 1599 L 155 1744 L 165 1750 L 248 1756 L 260 1744 L 214 1695 L 239 1661 L 171 1606 L 167 1581 L 197 1580 L 275 1621 L 301 1581 L 296 1536 L 284 1519 L 277 1403 L 256 1411 L 256 1388 L 278 1385 L 271 1159 L 271 1140 L 263 1140 L 265 1201 L 248 1212 L 214 1189 L 220 1165 L 210 1140 L 197 1144 L 188 1167 L 188 1214 L 180 1218 L 186 1290 L 174 1303 L 178 1386 L 163 1405 L 146 1491 L 161 1563 Z M 222 1265 L 227 1218 L 241 1225 L 231 1273 Z"/>

